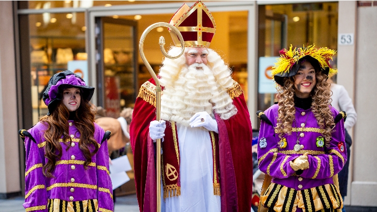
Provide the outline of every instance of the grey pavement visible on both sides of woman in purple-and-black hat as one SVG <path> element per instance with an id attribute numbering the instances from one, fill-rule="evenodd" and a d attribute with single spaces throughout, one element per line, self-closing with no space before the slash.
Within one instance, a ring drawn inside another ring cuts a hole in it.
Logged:
<path id="1" fill-rule="evenodd" d="M 24 197 L 12 199 L 0 199 L 0 212 L 25 212 L 22 204 L 25 202 Z M 116 197 L 114 212 L 139 212 L 136 194 Z"/>

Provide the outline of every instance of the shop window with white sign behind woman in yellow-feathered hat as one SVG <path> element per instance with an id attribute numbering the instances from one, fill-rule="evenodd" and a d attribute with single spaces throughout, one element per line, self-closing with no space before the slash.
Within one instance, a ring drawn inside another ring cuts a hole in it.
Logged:
<path id="1" fill-rule="evenodd" d="M 291 44 L 337 49 L 338 2 L 259 5 L 258 10 L 258 110 L 266 110 L 277 101 L 275 84 L 269 79 L 266 89 L 261 79 L 270 73 L 267 68 L 274 65 L 279 50 Z M 335 68 L 336 57 L 333 59 Z"/>

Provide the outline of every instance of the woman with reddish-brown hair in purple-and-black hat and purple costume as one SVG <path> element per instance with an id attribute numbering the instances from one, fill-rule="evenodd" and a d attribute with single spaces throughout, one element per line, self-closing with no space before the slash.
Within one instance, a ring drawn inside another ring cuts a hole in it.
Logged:
<path id="1" fill-rule="evenodd" d="M 70 71 L 55 74 L 43 93 L 49 113 L 25 141 L 27 212 L 112 212 L 107 139 L 94 123 L 94 87 Z"/>

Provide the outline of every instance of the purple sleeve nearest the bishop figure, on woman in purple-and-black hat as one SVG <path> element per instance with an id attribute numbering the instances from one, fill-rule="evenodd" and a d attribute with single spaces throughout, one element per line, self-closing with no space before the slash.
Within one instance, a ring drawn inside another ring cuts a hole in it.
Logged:
<path id="1" fill-rule="evenodd" d="M 96 140 L 100 144 L 100 148 L 96 156 L 97 165 L 97 197 L 98 197 L 98 208 L 100 212 L 113 212 L 114 202 L 112 196 L 112 184 L 110 179 L 110 174 L 108 172 L 108 140 L 104 137 L 104 130 L 97 124 L 96 129 L 100 131 L 97 134 Z"/>

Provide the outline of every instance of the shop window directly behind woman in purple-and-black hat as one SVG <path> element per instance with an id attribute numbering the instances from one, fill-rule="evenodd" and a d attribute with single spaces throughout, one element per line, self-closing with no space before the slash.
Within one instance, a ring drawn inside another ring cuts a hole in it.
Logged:
<path id="1" fill-rule="evenodd" d="M 32 122 L 48 109 L 42 100 L 49 79 L 68 69 L 87 82 L 83 13 L 44 13 L 28 16 Z"/>

